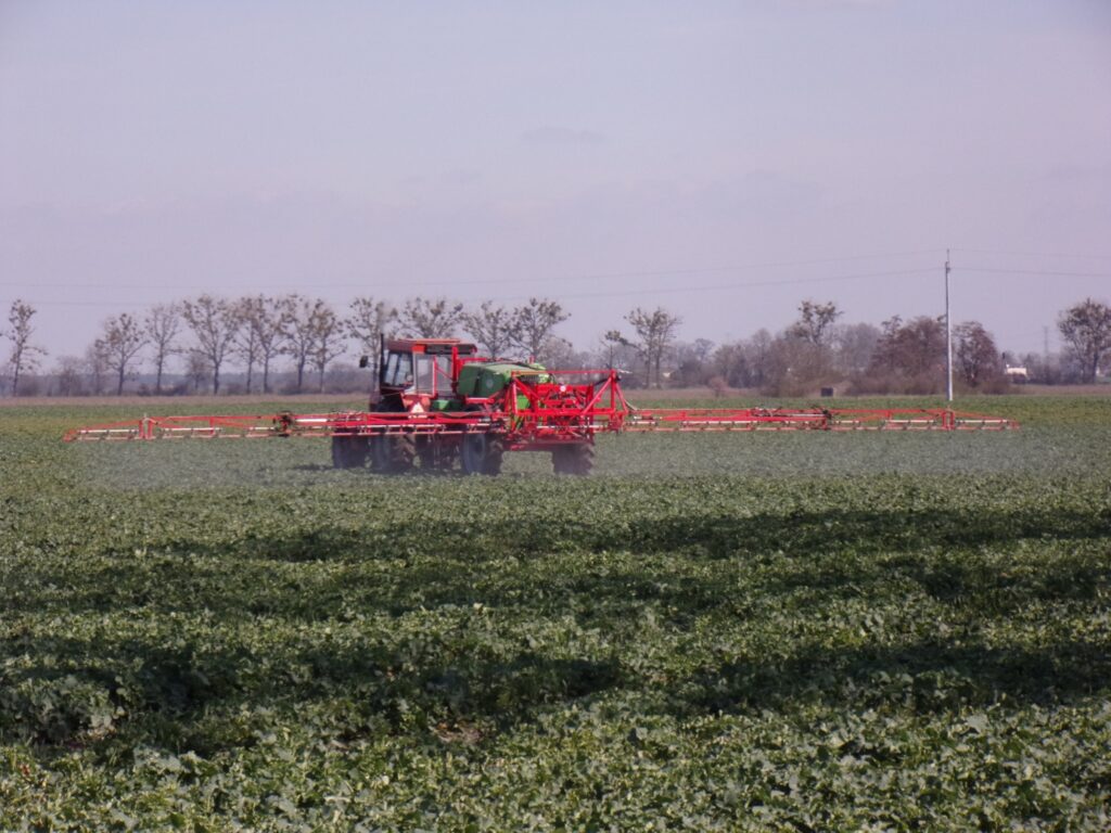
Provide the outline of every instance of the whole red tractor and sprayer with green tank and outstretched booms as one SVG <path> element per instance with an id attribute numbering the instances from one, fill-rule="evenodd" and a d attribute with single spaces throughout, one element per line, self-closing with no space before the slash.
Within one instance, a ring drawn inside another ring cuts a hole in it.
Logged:
<path id="1" fill-rule="evenodd" d="M 360 362 L 367 367 L 364 357 Z M 648 431 L 961 431 L 1018 428 L 949 409 L 640 409 L 614 370 L 554 371 L 478 355 L 457 339 L 383 340 L 369 410 L 264 416 L 144 416 L 69 431 L 78 440 L 330 438 L 339 469 L 498 474 L 508 451 L 551 454 L 588 474 L 599 433 Z"/>

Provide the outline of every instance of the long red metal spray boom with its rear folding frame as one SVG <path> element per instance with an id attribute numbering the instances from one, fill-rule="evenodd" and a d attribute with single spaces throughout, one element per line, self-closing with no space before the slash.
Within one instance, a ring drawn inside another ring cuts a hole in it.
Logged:
<path id="1" fill-rule="evenodd" d="M 466 361 L 452 357 L 453 362 Z M 494 397 L 464 400 L 468 410 L 401 413 L 289 412 L 270 415 L 144 416 L 73 429 L 79 440 L 176 440 L 273 436 L 374 436 L 393 433 L 460 438 L 500 435 L 508 450 L 546 450 L 593 442 L 604 432 L 652 431 L 1002 431 L 1015 421 L 949 409 L 712 408 L 637 409 L 615 371 L 553 371 L 582 382 L 537 382 L 513 377 Z"/>

